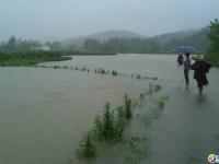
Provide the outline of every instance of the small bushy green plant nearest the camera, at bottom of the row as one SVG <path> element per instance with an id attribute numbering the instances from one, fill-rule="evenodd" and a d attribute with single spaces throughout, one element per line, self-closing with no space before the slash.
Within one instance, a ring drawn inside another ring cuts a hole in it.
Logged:
<path id="1" fill-rule="evenodd" d="M 78 154 L 81 157 L 94 157 L 96 155 L 96 145 L 89 132 L 81 140 Z"/>

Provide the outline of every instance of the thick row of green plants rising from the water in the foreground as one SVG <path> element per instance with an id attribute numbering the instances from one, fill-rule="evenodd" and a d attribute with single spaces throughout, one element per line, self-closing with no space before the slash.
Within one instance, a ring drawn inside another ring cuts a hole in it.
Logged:
<path id="1" fill-rule="evenodd" d="M 130 98 L 127 94 L 123 97 L 123 104 L 115 107 L 111 107 L 108 102 L 105 103 L 103 113 L 95 117 L 94 127 L 83 136 L 78 149 L 79 157 L 95 157 L 97 147 L 100 142 L 113 142 L 117 143 L 124 140 L 124 132 L 126 127 L 130 124 L 134 117 L 134 112 L 142 106 L 146 106 L 147 97 L 151 97 L 153 93 L 161 90 L 161 85 L 149 84 L 149 89 L 139 94 L 138 98 Z M 153 118 L 158 118 L 162 109 L 164 108 L 166 97 L 160 96 L 154 98 L 153 106 L 147 117 L 143 116 L 143 121 L 151 122 Z M 148 148 L 148 137 L 145 134 L 131 136 L 126 138 L 127 150 L 125 153 L 126 160 L 136 161 L 139 160 L 142 154 L 146 153 Z"/>

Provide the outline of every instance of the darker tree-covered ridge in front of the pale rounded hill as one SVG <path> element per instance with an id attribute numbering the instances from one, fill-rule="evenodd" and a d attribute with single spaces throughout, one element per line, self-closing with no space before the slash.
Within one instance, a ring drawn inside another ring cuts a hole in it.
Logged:
<path id="1" fill-rule="evenodd" d="M 112 37 L 106 42 L 87 39 L 83 50 L 88 52 L 132 52 L 132 54 L 170 54 L 177 46 L 187 45 L 204 52 L 209 46 L 208 28 L 175 32 L 153 37 Z"/>

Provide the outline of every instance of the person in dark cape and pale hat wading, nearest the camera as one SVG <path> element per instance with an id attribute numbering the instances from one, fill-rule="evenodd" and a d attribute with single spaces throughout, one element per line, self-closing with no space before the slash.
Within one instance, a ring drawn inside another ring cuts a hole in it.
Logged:
<path id="1" fill-rule="evenodd" d="M 203 94 L 203 86 L 208 84 L 207 80 L 207 73 L 209 72 L 209 69 L 211 68 L 211 65 L 204 61 L 199 57 L 193 57 L 193 60 L 195 60 L 195 63 L 191 66 L 192 70 L 195 70 L 194 72 L 194 79 L 197 81 L 197 86 L 199 91 L 199 95 Z"/>

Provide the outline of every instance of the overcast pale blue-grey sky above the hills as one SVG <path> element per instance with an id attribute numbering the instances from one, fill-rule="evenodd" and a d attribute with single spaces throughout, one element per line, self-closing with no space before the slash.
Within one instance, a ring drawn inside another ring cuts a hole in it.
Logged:
<path id="1" fill-rule="evenodd" d="M 146 36 L 199 28 L 219 0 L 0 0 L 0 40 L 65 39 L 107 30 Z"/>

